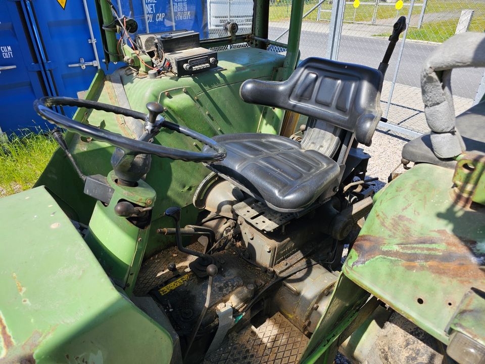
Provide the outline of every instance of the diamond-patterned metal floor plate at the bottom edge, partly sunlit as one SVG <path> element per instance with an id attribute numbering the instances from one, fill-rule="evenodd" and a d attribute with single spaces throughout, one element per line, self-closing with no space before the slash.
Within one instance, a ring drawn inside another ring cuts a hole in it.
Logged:
<path id="1" fill-rule="evenodd" d="M 308 340 L 278 312 L 259 328 L 251 326 L 229 334 L 222 346 L 207 357 L 204 363 L 296 363 L 303 355 Z"/>

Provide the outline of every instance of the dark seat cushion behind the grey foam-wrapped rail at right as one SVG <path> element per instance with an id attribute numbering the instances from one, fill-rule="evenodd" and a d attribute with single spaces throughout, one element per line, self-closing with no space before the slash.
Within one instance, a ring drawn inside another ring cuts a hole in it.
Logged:
<path id="1" fill-rule="evenodd" d="M 455 127 L 468 152 L 485 154 L 485 102 L 457 116 Z M 402 156 L 414 163 L 430 163 L 446 168 L 454 168 L 456 164 L 454 159 L 442 159 L 434 155 L 429 133 L 406 143 Z"/>

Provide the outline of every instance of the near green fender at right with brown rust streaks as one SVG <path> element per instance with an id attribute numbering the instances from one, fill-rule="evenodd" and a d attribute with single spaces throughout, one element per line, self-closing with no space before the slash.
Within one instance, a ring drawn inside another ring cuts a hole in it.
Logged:
<path id="1" fill-rule="evenodd" d="M 465 293 L 472 286 L 485 290 L 485 210 L 455 204 L 453 172 L 419 164 L 387 185 L 343 268 L 445 344 Z"/>

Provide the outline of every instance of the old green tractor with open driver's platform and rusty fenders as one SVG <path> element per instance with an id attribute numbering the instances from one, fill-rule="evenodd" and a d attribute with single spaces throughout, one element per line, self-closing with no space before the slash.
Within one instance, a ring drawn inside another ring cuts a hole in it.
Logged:
<path id="1" fill-rule="evenodd" d="M 100 0 L 106 59 L 126 67 L 85 100 L 34 103 L 67 132 L 36 186 L 0 200 L 0 363 L 485 362 L 485 103 L 455 128 L 450 86 L 485 65 L 485 35 L 427 59 L 431 132 L 373 195 L 358 146 L 405 20 L 378 69 L 299 64 L 303 6 L 281 44 L 268 1 L 251 34 L 201 40 L 134 38 Z"/>

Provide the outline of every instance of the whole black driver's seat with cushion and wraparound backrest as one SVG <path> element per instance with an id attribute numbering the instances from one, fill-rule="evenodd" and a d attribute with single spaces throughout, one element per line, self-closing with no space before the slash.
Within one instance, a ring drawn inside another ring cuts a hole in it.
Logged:
<path id="1" fill-rule="evenodd" d="M 354 135 L 370 145 L 381 87 L 376 69 L 320 58 L 307 58 L 282 82 L 247 80 L 244 101 L 308 116 L 305 136 L 298 143 L 273 134 L 217 135 L 227 157 L 208 167 L 276 211 L 304 210 L 335 194 Z"/>

